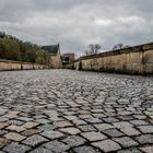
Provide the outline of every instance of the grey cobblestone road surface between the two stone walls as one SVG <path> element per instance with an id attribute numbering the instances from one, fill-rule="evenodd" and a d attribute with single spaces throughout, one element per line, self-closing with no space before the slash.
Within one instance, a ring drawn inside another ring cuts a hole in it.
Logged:
<path id="1" fill-rule="evenodd" d="M 153 78 L 0 72 L 0 153 L 153 153 Z"/>

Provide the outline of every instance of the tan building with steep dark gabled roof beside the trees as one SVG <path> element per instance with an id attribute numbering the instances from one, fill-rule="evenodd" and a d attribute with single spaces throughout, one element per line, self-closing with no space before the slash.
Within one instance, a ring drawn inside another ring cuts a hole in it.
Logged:
<path id="1" fill-rule="evenodd" d="M 59 44 L 50 45 L 50 46 L 43 46 L 42 49 L 47 50 L 49 54 L 48 66 L 50 68 L 52 68 L 52 69 L 62 68 L 62 60 L 61 60 Z"/>

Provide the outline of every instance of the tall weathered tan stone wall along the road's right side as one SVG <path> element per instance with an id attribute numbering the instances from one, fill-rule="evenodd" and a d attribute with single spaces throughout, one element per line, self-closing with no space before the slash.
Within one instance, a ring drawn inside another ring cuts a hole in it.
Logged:
<path id="1" fill-rule="evenodd" d="M 153 43 L 85 56 L 69 66 L 76 70 L 153 74 Z"/>

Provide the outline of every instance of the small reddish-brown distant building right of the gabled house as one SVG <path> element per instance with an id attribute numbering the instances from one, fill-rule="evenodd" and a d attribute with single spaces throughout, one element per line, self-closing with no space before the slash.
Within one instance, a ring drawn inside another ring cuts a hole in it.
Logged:
<path id="1" fill-rule="evenodd" d="M 63 54 L 62 55 L 62 64 L 68 64 L 74 60 L 74 54 Z"/>

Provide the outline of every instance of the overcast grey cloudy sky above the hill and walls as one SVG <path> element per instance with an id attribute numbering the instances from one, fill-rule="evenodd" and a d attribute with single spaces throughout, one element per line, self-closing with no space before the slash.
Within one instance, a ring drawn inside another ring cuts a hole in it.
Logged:
<path id="1" fill-rule="evenodd" d="M 0 0 L 0 31 L 81 54 L 153 42 L 153 0 Z"/>

